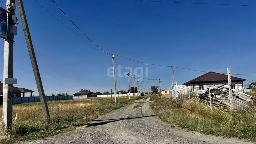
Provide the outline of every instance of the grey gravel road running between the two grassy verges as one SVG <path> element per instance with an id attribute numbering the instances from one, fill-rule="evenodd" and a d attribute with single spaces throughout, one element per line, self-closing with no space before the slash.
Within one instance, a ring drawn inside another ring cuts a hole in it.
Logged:
<path id="1" fill-rule="evenodd" d="M 134 108 L 140 105 L 141 107 Z M 99 117 L 78 130 L 57 135 L 43 140 L 24 143 L 90 143 L 90 144 L 192 144 L 192 143 L 225 143 L 225 144 L 249 144 L 236 138 L 223 138 L 201 135 L 194 131 L 182 128 L 171 128 L 165 122 L 159 120 L 150 109 L 148 100 L 141 100 L 126 107 L 114 110 Z"/>

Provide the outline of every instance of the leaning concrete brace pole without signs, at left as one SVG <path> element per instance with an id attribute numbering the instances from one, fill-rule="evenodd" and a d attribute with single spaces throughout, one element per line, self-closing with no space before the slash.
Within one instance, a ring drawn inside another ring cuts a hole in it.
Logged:
<path id="1" fill-rule="evenodd" d="M 42 110 L 44 112 L 45 118 L 50 121 L 50 114 L 49 114 L 48 106 L 47 106 L 46 99 L 45 99 L 45 92 L 44 92 L 43 84 L 41 81 L 39 68 L 38 68 L 37 61 L 36 61 L 36 55 L 35 55 L 34 47 L 32 44 L 32 39 L 30 36 L 28 22 L 27 22 L 27 18 L 26 18 L 22 0 L 17 0 L 17 5 L 18 5 L 18 9 L 19 9 L 19 15 L 20 15 L 20 20 L 21 20 L 22 27 L 23 27 L 23 32 L 24 32 L 27 47 L 28 47 L 28 54 L 30 57 L 33 71 L 34 71 L 36 85 L 37 85 L 40 101 L 42 104 Z"/>

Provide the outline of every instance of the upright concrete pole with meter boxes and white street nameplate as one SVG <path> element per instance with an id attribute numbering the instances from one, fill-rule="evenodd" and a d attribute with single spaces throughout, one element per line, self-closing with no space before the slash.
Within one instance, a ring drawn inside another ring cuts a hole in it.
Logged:
<path id="1" fill-rule="evenodd" d="M 6 5 L 15 3 L 15 0 L 7 0 Z M 13 78 L 13 37 L 10 34 L 12 22 L 12 15 L 14 15 L 14 9 L 7 9 L 7 35 L 4 41 L 4 83 L 3 83 L 3 126 L 7 131 L 12 130 L 13 123 L 13 84 L 5 84 L 5 78 Z"/>

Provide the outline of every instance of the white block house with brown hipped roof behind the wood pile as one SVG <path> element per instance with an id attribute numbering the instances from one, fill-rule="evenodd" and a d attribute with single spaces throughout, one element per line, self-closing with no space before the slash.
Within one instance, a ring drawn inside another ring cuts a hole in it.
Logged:
<path id="1" fill-rule="evenodd" d="M 238 78 L 238 77 L 233 77 L 231 76 L 231 88 L 236 91 L 241 91 L 243 92 L 243 81 L 246 79 L 243 78 Z M 228 87 L 228 75 L 220 74 L 220 73 L 215 73 L 215 72 L 208 72 L 204 75 L 201 75 L 197 78 L 194 78 L 183 85 L 187 87 L 188 92 L 193 92 L 197 94 L 202 94 L 204 93 L 210 86 L 210 88 L 217 88 L 221 85 L 226 84 L 223 87 Z"/>

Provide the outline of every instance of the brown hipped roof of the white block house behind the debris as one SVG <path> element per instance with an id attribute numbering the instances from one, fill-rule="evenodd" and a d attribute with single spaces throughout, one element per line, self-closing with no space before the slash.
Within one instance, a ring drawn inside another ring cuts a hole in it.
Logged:
<path id="1" fill-rule="evenodd" d="M 244 80 L 246 79 L 231 76 L 231 81 L 244 81 Z M 188 85 L 192 83 L 205 83 L 205 82 L 209 83 L 209 82 L 221 82 L 221 81 L 228 81 L 228 75 L 210 71 L 204 75 L 201 75 L 197 78 L 194 78 L 184 83 L 183 85 Z"/>

